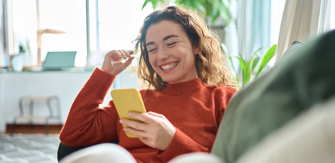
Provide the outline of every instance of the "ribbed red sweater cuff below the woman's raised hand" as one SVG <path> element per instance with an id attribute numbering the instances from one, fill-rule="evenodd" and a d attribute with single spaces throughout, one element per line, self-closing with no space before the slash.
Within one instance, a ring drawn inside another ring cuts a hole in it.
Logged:
<path id="1" fill-rule="evenodd" d="M 96 67 L 84 87 L 93 92 L 107 92 L 111 88 L 115 77 Z"/>

